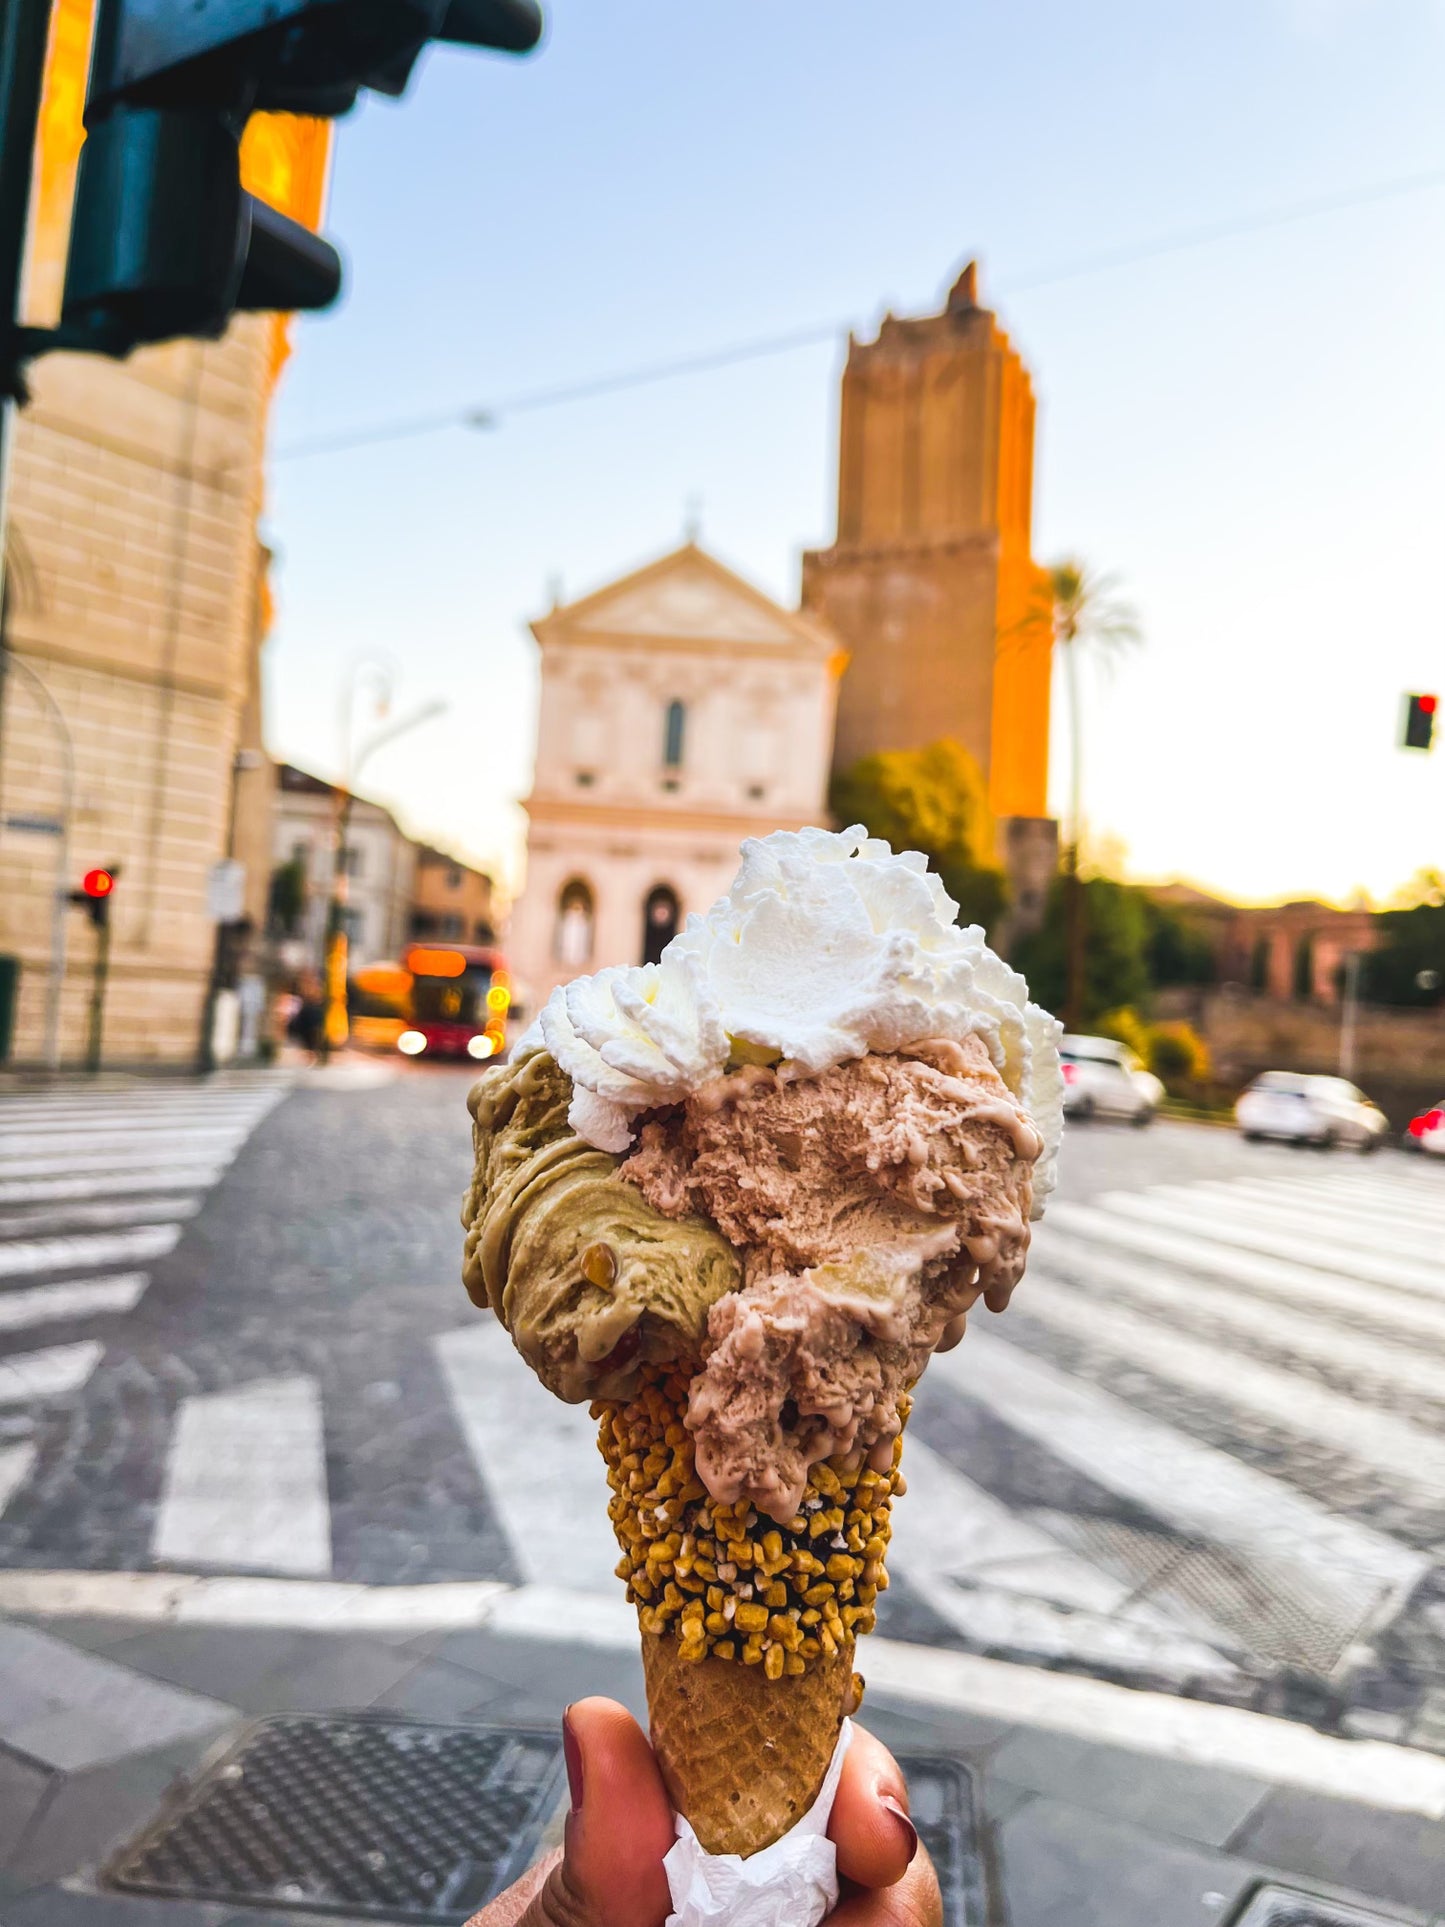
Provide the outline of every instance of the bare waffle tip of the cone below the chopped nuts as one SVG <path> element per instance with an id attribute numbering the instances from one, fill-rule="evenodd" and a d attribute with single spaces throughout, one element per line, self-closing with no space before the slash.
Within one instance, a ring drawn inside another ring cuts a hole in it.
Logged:
<path id="1" fill-rule="evenodd" d="M 763 1667 L 684 1659 L 642 1636 L 647 1713 L 672 1806 L 709 1854 L 755 1854 L 817 1798 L 854 1698 L 852 1651 L 771 1680 Z"/>

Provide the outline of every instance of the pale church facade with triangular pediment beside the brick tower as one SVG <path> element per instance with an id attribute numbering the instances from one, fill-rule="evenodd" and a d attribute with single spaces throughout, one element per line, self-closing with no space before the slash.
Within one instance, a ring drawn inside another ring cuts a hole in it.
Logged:
<path id="1" fill-rule="evenodd" d="M 694 543 L 532 624 L 541 707 L 518 998 L 655 960 L 744 836 L 827 821 L 840 655 Z"/>

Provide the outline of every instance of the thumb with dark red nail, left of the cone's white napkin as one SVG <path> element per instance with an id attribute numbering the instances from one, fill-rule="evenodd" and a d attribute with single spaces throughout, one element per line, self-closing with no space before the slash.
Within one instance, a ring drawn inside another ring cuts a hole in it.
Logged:
<path id="1" fill-rule="evenodd" d="M 663 1927 L 672 1804 L 642 1727 L 615 1700 L 578 1700 L 563 1736 L 566 1844 L 524 1927 Z"/>

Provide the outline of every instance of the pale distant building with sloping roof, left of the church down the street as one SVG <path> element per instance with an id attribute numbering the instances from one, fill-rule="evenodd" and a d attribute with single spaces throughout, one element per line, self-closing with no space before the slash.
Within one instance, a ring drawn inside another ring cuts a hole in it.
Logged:
<path id="1" fill-rule="evenodd" d="M 301 884 L 301 915 L 285 935 L 318 965 L 326 950 L 339 807 L 341 792 L 333 782 L 293 763 L 277 765 L 272 858 L 276 869 L 291 865 Z M 343 861 L 349 964 L 397 960 L 410 935 L 416 844 L 389 809 L 355 796 Z"/>

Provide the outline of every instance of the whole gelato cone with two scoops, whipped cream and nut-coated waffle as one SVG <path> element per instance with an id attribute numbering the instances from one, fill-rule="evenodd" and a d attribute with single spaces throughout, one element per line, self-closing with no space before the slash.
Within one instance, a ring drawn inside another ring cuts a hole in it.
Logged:
<path id="1" fill-rule="evenodd" d="M 707 1854 L 813 1806 L 911 1387 L 1008 1305 L 1052 1187 L 1058 1025 L 954 913 L 861 831 L 744 844 L 661 964 L 557 990 L 472 1091 L 466 1285 L 591 1401 L 653 1746 Z"/>

